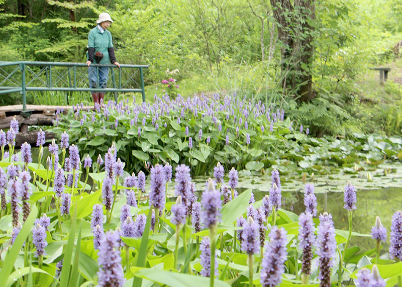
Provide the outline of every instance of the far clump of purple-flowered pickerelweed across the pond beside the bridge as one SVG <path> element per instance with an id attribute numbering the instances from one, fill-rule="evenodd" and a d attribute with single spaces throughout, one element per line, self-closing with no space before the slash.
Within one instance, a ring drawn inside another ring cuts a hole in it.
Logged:
<path id="1" fill-rule="evenodd" d="M 262 155 L 280 149 L 275 146 L 276 136 L 292 132 L 306 137 L 309 133 L 309 129 L 292 127 L 283 110 L 236 94 L 188 99 L 178 95 L 174 100 L 166 94 L 155 95 L 154 100 L 140 105 L 129 104 L 128 99 L 109 101 L 103 109 L 95 104 L 94 111 L 77 105 L 68 115 L 56 113 L 51 131 L 67 132 L 93 160 L 98 149 L 106 152 L 116 142 L 118 157 L 128 172 L 144 169 L 147 162 L 163 161 L 184 163 L 192 175 L 209 172 L 218 161 L 227 169 L 269 167 L 271 163 Z"/>

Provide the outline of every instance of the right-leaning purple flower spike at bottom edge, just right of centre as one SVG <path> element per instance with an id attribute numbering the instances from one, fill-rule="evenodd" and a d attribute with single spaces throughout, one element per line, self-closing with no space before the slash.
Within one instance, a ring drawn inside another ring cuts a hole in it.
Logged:
<path id="1" fill-rule="evenodd" d="M 270 241 L 261 262 L 260 283 L 263 287 L 278 286 L 282 282 L 286 261 L 286 231 L 273 226 L 269 233 Z"/>

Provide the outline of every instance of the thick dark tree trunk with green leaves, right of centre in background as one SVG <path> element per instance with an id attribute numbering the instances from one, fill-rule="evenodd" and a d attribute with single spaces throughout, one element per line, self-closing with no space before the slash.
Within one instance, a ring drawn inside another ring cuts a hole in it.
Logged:
<path id="1" fill-rule="evenodd" d="M 286 73 L 283 85 L 296 93 L 298 101 L 312 99 L 312 75 L 314 28 L 314 0 L 270 0 L 275 21 L 278 23 L 278 38 L 282 42 L 282 72 Z"/>

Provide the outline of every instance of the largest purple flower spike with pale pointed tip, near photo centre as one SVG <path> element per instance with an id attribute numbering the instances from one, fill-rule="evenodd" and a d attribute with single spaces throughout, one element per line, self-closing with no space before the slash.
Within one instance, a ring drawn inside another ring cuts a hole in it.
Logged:
<path id="1" fill-rule="evenodd" d="M 201 205 L 203 207 L 202 222 L 205 228 L 211 228 L 221 221 L 221 194 L 215 189 L 211 178 L 203 193 Z"/>

